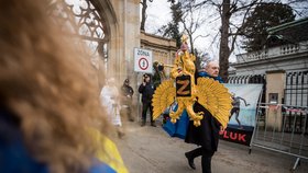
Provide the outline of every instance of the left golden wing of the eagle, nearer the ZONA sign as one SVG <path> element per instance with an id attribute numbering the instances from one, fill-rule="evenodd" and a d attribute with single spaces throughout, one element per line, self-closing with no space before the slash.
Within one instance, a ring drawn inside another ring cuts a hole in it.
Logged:
<path id="1" fill-rule="evenodd" d="M 174 80 L 167 80 L 160 84 L 152 99 L 153 119 L 156 119 L 174 102 L 175 95 Z"/>

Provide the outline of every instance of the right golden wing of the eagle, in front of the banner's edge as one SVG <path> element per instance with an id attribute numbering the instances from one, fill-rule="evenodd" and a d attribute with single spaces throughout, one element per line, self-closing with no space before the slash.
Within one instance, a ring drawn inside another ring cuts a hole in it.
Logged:
<path id="1" fill-rule="evenodd" d="M 198 102 L 226 128 L 232 108 L 228 89 L 213 79 L 198 78 L 197 96 Z"/>

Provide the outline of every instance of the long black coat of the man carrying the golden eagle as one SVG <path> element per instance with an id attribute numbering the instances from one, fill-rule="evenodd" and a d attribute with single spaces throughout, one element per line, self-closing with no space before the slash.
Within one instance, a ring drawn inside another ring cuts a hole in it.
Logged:
<path id="1" fill-rule="evenodd" d="M 201 125 L 196 127 L 193 120 L 189 120 L 185 142 L 202 146 L 208 151 L 217 151 L 219 140 L 219 122 L 198 102 L 194 105 L 195 113 L 204 112 Z"/>

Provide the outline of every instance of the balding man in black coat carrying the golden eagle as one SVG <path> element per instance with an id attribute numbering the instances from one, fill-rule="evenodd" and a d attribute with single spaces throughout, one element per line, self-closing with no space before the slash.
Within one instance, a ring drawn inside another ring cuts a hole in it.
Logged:
<path id="1" fill-rule="evenodd" d="M 212 78 L 221 83 L 222 79 L 218 74 L 219 64 L 217 61 L 208 61 L 205 70 L 198 73 L 198 78 Z M 185 142 L 195 143 L 200 147 L 186 152 L 185 157 L 188 160 L 189 166 L 196 170 L 194 159 L 201 155 L 202 173 L 211 173 L 211 158 L 217 151 L 219 130 L 222 130 L 222 126 L 211 113 L 198 102 L 195 103 L 194 111 L 204 112 L 204 118 L 199 127 L 194 126 L 194 122 L 189 120 Z"/>

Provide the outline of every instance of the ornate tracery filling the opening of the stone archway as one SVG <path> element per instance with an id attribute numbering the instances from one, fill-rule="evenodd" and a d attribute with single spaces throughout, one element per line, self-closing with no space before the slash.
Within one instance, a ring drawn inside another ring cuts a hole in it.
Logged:
<path id="1" fill-rule="evenodd" d="M 91 0 L 51 0 L 52 15 L 63 25 L 63 32 L 81 37 L 89 47 L 87 54 L 91 64 L 99 69 L 99 58 L 108 59 L 109 36 L 105 20 L 99 15 Z M 80 43 L 74 43 L 76 45 Z"/>

